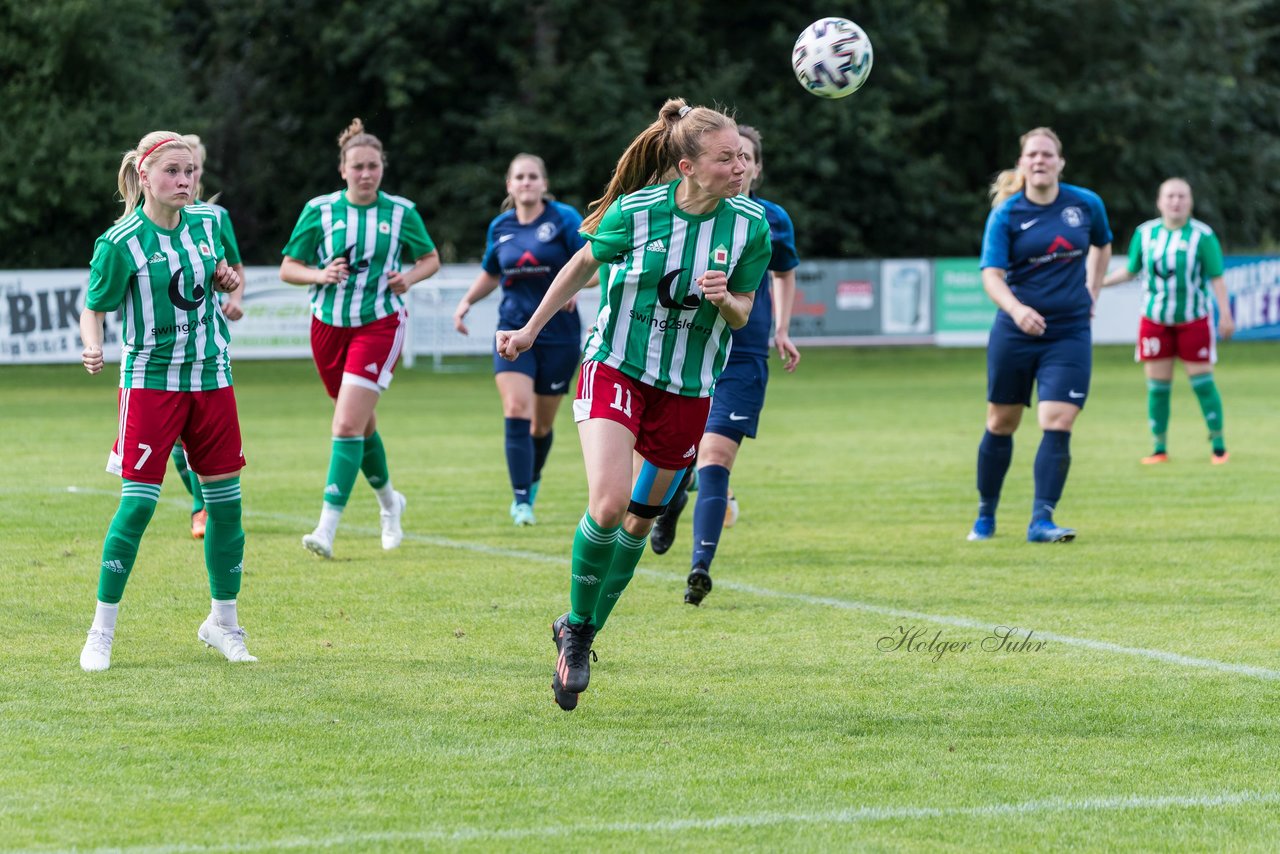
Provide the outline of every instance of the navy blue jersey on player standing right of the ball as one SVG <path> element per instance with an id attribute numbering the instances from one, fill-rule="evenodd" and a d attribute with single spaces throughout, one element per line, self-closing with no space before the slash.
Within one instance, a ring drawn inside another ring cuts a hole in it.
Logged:
<path id="1" fill-rule="evenodd" d="M 1107 211 L 1092 189 L 1059 184 L 1057 198 L 1048 205 L 1018 192 L 987 216 L 982 266 L 1005 270 L 1018 301 L 1044 318 L 1046 335 L 1056 335 L 1089 325 L 1089 246 L 1110 242 Z M 996 323 L 1018 328 L 1004 311 Z"/>

